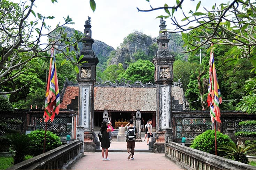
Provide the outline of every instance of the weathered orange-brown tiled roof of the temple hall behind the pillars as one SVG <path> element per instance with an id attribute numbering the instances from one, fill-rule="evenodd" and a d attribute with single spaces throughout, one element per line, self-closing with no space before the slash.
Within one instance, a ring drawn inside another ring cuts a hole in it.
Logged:
<path id="1" fill-rule="evenodd" d="M 67 109 L 72 99 L 78 96 L 78 86 L 67 86 L 61 109 Z M 183 91 L 172 87 L 172 96 L 183 103 Z M 112 111 L 156 111 L 156 87 L 94 87 L 94 110 Z"/>

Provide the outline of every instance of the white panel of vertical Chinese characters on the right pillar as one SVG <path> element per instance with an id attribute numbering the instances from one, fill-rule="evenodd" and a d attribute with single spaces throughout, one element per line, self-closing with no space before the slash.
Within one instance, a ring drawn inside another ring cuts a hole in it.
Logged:
<path id="1" fill-rule="evenodd" d="M 169 96 L 169 86 L 162 86 L 161 87 L 161 129 L 169 128 L 169 121 L 170 121 L 170 106 L 169 106 L 170 96 Z"/>

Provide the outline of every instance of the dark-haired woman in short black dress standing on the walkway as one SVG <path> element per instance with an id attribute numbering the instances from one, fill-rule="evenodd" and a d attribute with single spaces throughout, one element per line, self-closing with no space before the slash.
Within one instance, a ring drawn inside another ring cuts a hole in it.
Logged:
<path id="1" fill-rule="evenodd" d="M 108 134 L 109 131 L 111 130 L 107 128 L 107 122 L 103 121 L 100 127 L 100 132 L 102 134 L 102 139 L 100 144 L 100 146 L 102 147 L 102 150 L 101 150 L 102 161 L 110 161 L 110 159 L 108 158 L 108 148 L 110 147 L 109 134 Z M 106 153 L 106 158 L 104 158 L 104 152 Z"/>

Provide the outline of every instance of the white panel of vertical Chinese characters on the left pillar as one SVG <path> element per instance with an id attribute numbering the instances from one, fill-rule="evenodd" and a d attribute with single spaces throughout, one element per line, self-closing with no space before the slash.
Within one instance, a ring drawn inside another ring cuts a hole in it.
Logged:
<path id="1" fill-rule="evenodd" d="M 83 95 L 83 100 L 82 100 L 82 117 L 83 117 L 83 122 L 82 125 L 84 125 L 86 128 L 89 128 L 89 121 L 90 121 L 90 112 L 89 112 L 89 87 L 83 87 L 82 88 L 82 95 Z"/>

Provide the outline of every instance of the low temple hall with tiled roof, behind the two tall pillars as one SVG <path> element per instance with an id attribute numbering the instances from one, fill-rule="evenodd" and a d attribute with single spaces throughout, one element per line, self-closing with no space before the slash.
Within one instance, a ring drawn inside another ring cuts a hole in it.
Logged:
<path id="1" fill-rule="evenodd" d="M 172 85 L 172 109 L 186 110 L 182 84 L 175 82 Z M 61 109 L 78 110 L 78 84 L 66 82 L 61 95 Z M 104 84 L 96 83 L 94 86 L 94 128 L 100 127 L 103 113 L 108 112 L 108 120 L 117 129 L 125 124 L 132 115 L 140 110 L 141 117 L 145 120 L 152 119 L 156 127 L 156 85 L 125 83 Z M 125 126 L 125 125 L 124 125 Z"/>

